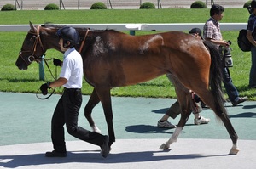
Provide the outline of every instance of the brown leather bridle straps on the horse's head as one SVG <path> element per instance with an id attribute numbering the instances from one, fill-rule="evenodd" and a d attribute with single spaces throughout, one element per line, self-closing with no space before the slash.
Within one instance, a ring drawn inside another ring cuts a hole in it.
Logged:
<path id="1" fill-rule="evenodd" d="M 45 55 L 45 50 L 44 50 L 43 43 L 41 41 L 40 33 L 39 32 L 40 32 L 40 25 L 38 25 L 38 29 L 37 29 L 36 33 L 28 32 L 28 33 L 30 33 L 32 35 L 35 35 L 36 36 L 36 40 L 35 40 L 35 42 L 34 42 L 34 44 L 32 46 L 31 51 L 20 51 L 19 57 L 21 57 L 21 59 L 23 59 L 23 61 L 26 63 L 26 65 L 29 65 L 30 63 L 32 63 L 32 61 L 40 62 L 43 59 L 42 56 L 38 57 L 35 54 L 36 51 L 37 51 L 38 43 L 39 43 L 40 47 L 43 50 L 43 53 L 44 53 L 43 55 Z M 30 53 L 30 56 L 28 56 L 28 58 L 27 58 L 28 62 L 26 61 L 26 59 L 23 58 L 23 56 L 22 56 L 23 53 Z"/>

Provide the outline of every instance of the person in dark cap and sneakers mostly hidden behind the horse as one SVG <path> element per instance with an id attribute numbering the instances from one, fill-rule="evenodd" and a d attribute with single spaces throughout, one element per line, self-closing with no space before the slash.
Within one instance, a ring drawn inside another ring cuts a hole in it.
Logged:
<path id="1" fill-rule="evenodd" d="M 196 38 L 202 39 L 201 37 L 201 29 L 199 28 L 193 28 L 189 31 L 189 34 L 195 36 Z M 171 80 L 171 75 L 166 74 L 168 79 Z M 193 112 L 193 115 L 195 116 L 194 124 L 195 125 L 201 125 L 201 124 L 207 124 L 210 119 L 207 119 L 203 116 L 201 116 L 199 113 L 201 112 L 201 99 L 193 92 L 191 92 L 192 96 L 194 96 L 195 104 L 197 107 L 196 112 Z M 157 127 L 160 128 L 176 128 L 176 125 L 173 125 L 170 121 L 168 121 L 169 117 L 172 117 L 172 119 L 175 119 L 177 115 L 181 114 L 181 109 L 179 106 L 178 101 L 176 101 L 172 106 L 166 111 L 165 115 L 162 116 L 162 118 L 157 121 Z"/>

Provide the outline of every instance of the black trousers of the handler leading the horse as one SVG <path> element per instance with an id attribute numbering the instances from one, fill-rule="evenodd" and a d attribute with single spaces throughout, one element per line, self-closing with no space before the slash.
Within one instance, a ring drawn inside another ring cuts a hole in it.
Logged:
<path id="1" fill-rule="evenodd" d="M 64 93 L 56 105 L 51 121 L 51 139 L 54 149 L 58 152 L 66 152 L 64 124 L 67 132 L 75 138 L 79 138 L 90 144 L 101 146 L 102 134 L 90 132 L 83 127 L 78 127 L 79 109 L 82 104 L 81 89 L 65 88 Z"/>

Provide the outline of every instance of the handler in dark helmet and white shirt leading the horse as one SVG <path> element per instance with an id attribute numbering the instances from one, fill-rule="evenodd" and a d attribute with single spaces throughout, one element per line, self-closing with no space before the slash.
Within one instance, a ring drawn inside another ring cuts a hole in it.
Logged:
<path id="1" fill-rule="evenodd" d="M 59 45 L 64 52 L 63 62 L 54 60 L 55 65 L 61 66 L 60 77 L 54 82 L 44 83 L 40 90 L 46 95 L 48 88 L 64 87 L 51 120 L 51 139 L 54 150 L 46 152 L 46 157 L 66 157 L 67 149 L 64 137 L 64 125 L 67 132 L 90 144 L 100 146 L 102 156 L 106 158 L 109 153 L 108 136 L 97 132 L 90 132 L 78 126 L 79 109 L 82 104 L 83 60 L 74 48 L 79 44 L 79 33 L 73 27 L 62 27 L 56 33 L 60 37 Z"/>

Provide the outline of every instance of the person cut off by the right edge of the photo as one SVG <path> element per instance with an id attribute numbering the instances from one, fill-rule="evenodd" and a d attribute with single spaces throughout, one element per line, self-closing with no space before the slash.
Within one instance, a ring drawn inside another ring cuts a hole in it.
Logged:
<path id="1" fill-rule="evenodd" d="M 247 39 L 252 43 L 251 54 L 252 54 L 252 65 L 250 70 L 249 87 L 256 88 L 256 42 L 253 34 L 255 33 L 256 26 L 256 1 L 253 0 L 251 3 L 252 14 L 249 17 L 247 25 Z"/>

